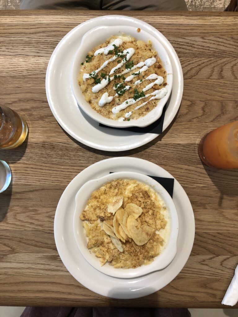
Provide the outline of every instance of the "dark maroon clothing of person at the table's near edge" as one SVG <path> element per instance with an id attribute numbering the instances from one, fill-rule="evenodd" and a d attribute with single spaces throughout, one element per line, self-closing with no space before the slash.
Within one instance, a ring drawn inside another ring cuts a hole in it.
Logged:
<path id="1" fill-rule="evenodd" d="M 26 307 L 20 317 L 191 317 L 187 308 Z"/>

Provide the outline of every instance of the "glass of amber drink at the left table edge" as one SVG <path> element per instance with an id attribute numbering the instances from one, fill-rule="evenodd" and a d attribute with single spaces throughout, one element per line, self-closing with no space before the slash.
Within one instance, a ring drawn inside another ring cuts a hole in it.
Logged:
<path id="1" fill-rule="evenodd" d="M 16 111 L 0 106 L 0 149 L 14 149 L 28 132 L 26 121 Z"/>

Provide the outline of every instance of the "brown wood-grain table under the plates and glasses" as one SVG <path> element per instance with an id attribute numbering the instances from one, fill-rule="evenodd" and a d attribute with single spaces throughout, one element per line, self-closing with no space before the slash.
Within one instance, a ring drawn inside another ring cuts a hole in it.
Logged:
<path id="1" fill-rule="evenodd" d="M 0 195 L 0 305 L 221 307 L 238 263 L 238 170 L 203 166 L 197 144 L 208 131 L 238 120 L 237 13 L 116 13 L 160 30 L 184 73 L 176 120 L 154 141 L 128 152 L 74 141 L 57 124 L 45 94 L 47 64 L 61 38 L 83 21 L 115 12 L 0 11 L 1 103 L 29 124 L 22 146 L 0 150 L 13 175 Z M 113 300 L 84 288 L 55 246 L 54 215 L 65 187 L 85 167 L 113 156 L 162 166 L 182 184 L 194 209 L 188 262 L 169 285 L 142 299 Z"/>

